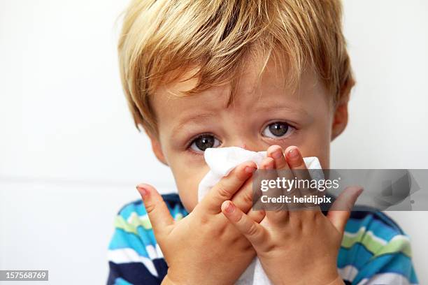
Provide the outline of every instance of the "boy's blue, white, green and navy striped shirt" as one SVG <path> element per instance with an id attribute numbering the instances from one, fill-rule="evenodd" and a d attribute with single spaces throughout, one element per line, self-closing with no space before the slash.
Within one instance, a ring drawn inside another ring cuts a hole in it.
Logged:
<path id="1" fill-rule="evenodd" d="M 178 195 L 163 195 L 174 219 L 187 215 Z M 141 200 L 122 207 L 108 248 L 108 285 L 161 284 L 168 266 Z M 353 211 L 337 259 L 345 284 L 418 284 L 411 245 L 401 228 L 379 211 Z"/>

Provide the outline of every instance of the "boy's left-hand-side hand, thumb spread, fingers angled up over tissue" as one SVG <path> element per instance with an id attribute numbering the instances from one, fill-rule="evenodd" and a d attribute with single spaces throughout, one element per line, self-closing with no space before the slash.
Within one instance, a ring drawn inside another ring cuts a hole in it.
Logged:
<path id="1" fill-rule="evenodd" d="M 163 284 L 234 284 L 241 276 L 255 257 L 255 250 L 227 221 L 221 205 L 232 200 L 248 214 L 248 219 L 262 221 L 264 212 L 251 210 L 252 179 L 248 178 L 256 168 L 253 162 L 234 168 L 180 221 L 173 220 L 162 196 L 153 187 L 138 185 L 156 240 L 169 265 Z"/>

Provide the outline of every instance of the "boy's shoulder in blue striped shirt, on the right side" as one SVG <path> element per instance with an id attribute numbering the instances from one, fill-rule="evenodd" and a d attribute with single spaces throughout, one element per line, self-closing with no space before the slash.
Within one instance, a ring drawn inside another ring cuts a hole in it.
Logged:
<path id="1" fill-rule="evenodd" d="M 348 284 L 418 284 L 411 256 L 410 238 L 387 214 L 352 211 L 337 265 Z"/>

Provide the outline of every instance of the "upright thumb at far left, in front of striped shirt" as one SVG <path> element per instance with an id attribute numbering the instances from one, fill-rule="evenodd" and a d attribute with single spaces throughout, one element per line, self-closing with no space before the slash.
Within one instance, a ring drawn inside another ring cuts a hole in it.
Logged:
<path id="1" fill-rule="evenodd" d="M 148 214 L 156 237 L 159 238 L 159 235 L 169 233 L 169 226 L 174 223 L 174 219 L 166 206 L 164 198 L 149 184 L 138 184 L 136 189 L 143 199 L 145 211 Z"/>

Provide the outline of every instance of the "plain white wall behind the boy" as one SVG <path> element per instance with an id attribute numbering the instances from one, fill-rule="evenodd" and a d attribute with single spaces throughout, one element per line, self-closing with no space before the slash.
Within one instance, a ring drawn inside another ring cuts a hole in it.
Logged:
<path id="1" fill-rule="evenodd" d="M 346 0 L 357 87 L 334 168 L 427 168 L 428 3 Z M 106 248 L 134 185 L 173 189 L 137 133 L 117 70 L 127 1 L 0 0 L 0 270 L 103 284 Z M 390 213 L 413 238 L 421 284 L 428 212 Z"/>

